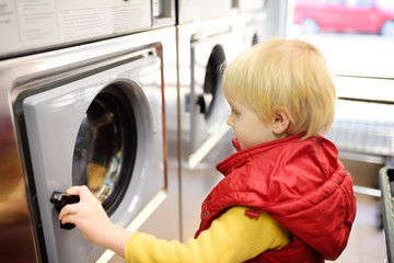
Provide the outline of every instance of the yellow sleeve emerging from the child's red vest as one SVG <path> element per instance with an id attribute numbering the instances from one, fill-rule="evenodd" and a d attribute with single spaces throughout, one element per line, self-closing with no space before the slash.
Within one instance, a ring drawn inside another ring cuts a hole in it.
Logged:
<path id="1" fill-rule="evenodd" d="M 244 262 L 290 242 L 289 232 L 266 213 L 245 216 L 247 207 L 232 207 L 186 244 L 135 232 L 125 248 L 127 262 Z"/>

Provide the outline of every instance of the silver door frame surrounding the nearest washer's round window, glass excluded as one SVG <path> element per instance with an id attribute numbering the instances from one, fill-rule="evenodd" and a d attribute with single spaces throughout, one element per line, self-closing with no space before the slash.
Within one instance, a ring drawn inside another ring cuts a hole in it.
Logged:
<path id="1" fill-rule="evenodd" d="M 160 59 L 147 57 L 23 101 L 49 262 L 93 261 L 103 252 L 103 249 L 86 242 L 79 231 L 60 229 L 58 213 L 48 199 L 51 192 L 65 191 L 72 185 L 77 134 L 89 105 L 105 87 L 119 81 L 124 84 L 135 110 L 138 138 L 131 182 L 124 201 L 111 216 L 112 221 L 126 227 L 137 211 L 164 187 L 160 71 Z"/>

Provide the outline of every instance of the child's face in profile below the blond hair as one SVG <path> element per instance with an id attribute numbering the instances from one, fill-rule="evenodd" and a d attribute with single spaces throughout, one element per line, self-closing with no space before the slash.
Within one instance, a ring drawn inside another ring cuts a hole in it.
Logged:
<path id="1" fill-rule="evenodd" d="M 270 124 L 265 124 L 241 101 L 229 101 L 231 114 L 227 124 L 233 128 L 242 149 L 278 139 Z"/>

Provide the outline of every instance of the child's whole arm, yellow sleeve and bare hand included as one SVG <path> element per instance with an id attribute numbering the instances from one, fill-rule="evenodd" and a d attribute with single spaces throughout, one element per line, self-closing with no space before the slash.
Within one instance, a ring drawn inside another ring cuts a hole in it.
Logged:
<path id="1" fill-rule="evenodd" d="M 86 186 L 67 191 L 80 202 L 61 209 L 62 224 L 72 222 L 91 242 L 113 250 L 129 262 L 243 262 L 267 249 L 279 249 L 290 242 L 290 235 L 266 213 L 258 219 L 245 216 L 245 207 L 232 207 L 198 239 L 187 244 L 131 233 L 111 222 L 99 199 Z"/>

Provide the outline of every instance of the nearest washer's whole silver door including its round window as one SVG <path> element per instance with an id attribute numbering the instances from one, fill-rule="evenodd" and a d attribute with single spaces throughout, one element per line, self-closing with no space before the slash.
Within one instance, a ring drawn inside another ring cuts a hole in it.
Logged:
<path id="1" fill-rule="evenodd" d="M 78 230 L 60 228 L 54 191 L 88 185 L 126 227 L 165 187 L 162 102 L 161 58 L 152 52 L 102 60 L 24 94 L 26 155 L 48 262 L 93 262 L 104 252 Z"/>

